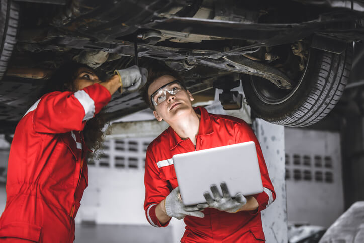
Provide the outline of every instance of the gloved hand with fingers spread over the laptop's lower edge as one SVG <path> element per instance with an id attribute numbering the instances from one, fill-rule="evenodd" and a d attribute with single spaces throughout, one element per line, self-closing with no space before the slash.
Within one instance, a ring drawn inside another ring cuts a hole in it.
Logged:
<path id="1" fill-rule="evenodd" d="M 210 187 L 214 198 L 211 197 L 209 192 L 204 193 L 204 197 L 210 208 L 216 208 L 220 211 L 225 211 L 228 213 L 236 213 L 242 206 L 246 204 L 246 198 L 241 193 L 236 194 L 235 199 L 231 198 L 229 189 L 225 182 L 222 182 L 220 187 L 222 191 L 222 197 L 216 185 L 212 185 Z M 200 206 L 200 204 L 197 205 L 197 208 L 201 207 L 204 206 Z"/>

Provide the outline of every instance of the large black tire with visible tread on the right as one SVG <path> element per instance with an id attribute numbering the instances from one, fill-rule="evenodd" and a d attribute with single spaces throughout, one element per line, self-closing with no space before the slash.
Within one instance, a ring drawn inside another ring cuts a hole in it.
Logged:
<path id="1" fill-rule="evenodd" d="M 277 95 L 282 90 L 268 80 L 250 76 L 243 80 L 243 90 L 251 109 L 257 117 L 289 127 L 304 127 L 320 121 L 334 108 L 345 89 L 352 52 L 352 43 L 342 54 L 311 48 L 303 76 L 282 97 Z"/>

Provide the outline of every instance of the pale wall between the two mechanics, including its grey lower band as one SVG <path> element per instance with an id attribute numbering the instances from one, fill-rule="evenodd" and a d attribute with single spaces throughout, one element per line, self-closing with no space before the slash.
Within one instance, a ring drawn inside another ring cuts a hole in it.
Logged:
<path id="1" fill-rule="evenodd" d="M 153 139 L 106 140 L 103 154 L 89 161 L 89 185 L 75 218 L 76 242 L 100 242 L 97 237 L 104 237 L 107 231 L 110 242 L 121 242 L 118 237 L 135 243 L 179 242 L 185 227 L 183 221 L 172 219 L 168 227 L 155 228 L 145 217 L 145 152 Z M 96 238 L 89 238 L 90 233 Z"/>

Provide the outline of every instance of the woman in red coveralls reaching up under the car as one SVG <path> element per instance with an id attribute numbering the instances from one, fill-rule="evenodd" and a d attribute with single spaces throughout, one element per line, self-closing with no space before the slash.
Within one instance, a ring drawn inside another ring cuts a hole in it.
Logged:
<path id="1" fill-rule="evenodd" d="M 136 91 L 146 76 L 146 69 L 132 66 L 101 82 L 93 69 L 73 62 L 55 72 L 52 92 L 15 130 L 0 242 L 74 241 L 74 217 L 88 185 L 85 159 L 101 141 L 103 124 L 95 115 L 116 90 Z"/>

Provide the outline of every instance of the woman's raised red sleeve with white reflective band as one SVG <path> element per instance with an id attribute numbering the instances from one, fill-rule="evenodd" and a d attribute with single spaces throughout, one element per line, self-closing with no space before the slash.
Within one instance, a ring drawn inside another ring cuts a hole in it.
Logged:
<path id="1" fill-rule="evenodd" d="M 44 95 L 33 113 L 36 132 L 65 133 L 83 130 L 85 111 L 90 118 L 110 101 L 110 92 L 100 84 L 88 86 L 77 92 L 52 92 Z M 81 94 L 85 98 L 80 98 Z"/>

